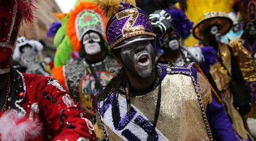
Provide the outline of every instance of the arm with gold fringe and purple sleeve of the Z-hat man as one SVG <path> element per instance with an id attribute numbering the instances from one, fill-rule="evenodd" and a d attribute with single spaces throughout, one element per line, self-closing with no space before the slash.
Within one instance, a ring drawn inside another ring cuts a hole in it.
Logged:
<path id="1" fill-rule="evenodd" d="M 206 80 L 202 70 L 199 70 L 199 80 L 201 85 L 201 97 L 206 110 L 206 117 L 214 140 L 237 140 L 235 132 L 231 127 L 231 122 L 227 116 L 224 105 Z"/>

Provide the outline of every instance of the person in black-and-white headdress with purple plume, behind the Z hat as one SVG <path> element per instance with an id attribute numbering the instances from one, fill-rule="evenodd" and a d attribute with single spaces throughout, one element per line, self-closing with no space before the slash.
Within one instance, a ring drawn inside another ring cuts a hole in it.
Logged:
<path id="1" fill-rule="evenodd" d="M 167 12 L 157 10 L 149 15 L 149 19 L 153 31 L 159 36 L 161 49 L 164 50 L 164 54 L 157 61 L 158 65 L 185 66 L 195 62 L 201 66 L 205 61 L 204 54 L 206 59 L 211 58 L 211 53 L 215 56 L 216 51 L 212 48 L 189 48 L 180 45 L 180 37 L 186 39 L 191 34 L 190 30 L 193 29 L 193 22 L 178 8 L 167 9 Z"/>

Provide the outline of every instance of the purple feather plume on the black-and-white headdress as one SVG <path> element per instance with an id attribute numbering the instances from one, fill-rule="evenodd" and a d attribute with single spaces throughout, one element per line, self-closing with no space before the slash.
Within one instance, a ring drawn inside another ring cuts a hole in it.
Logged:
<path id="1" fill-rule="evenodd" d="M 194 23 L 188 19 L 185 12 L 179 10 L 178 8 L 174 8 L 172 10 L 166 8 L 165 11 L 169 13 L 172 19 L 175 21 L 175 25 L 177 26 L 176 30 L 179 33 L 179 36 L 182 39 L 189 37 Z"/>

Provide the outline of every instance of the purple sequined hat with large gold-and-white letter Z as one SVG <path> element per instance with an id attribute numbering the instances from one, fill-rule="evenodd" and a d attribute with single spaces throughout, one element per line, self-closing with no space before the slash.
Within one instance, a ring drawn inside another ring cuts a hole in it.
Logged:
<path id="1" fill-rule="evenodd" d="M 109 50 L 121 48 L 122 46 L 117 46 L 118 43 L 131 37 L 147 35 L 145 38 L 138 38 L 128 43 L 156 38 L 146 12 L 131 4 L 120 3 L 120 5 L 123 7 L 120 7 L 118 12 L 110 17 L 106 28 Z"/>

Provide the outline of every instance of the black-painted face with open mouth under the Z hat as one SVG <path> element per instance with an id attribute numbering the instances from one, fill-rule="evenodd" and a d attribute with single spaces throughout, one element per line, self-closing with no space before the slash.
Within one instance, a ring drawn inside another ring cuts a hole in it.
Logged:
<path id="1" fill-rule="evenodd" d="M 148 78 L 153 72 L 155 53 L 149 40 L 132 42 L 121 48 L 123 65 L 132 74 Z"/>

